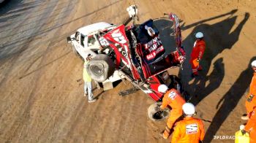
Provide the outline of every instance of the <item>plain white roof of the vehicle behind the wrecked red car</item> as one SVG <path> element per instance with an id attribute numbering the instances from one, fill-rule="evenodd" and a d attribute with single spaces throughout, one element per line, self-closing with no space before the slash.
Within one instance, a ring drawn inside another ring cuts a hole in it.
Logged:
<path id="1" fill-rule="evenodd" d="M 94 23 L 94 24 L 91 24 L 89 26 L 84 26 L 82 28 L 79 28 L 78 31 L 83 35 L 88 35 L 91 32 L 104 30 L 104 29 L 109 28 L 111 26 L 112 25 L 110 25 L 109 23 L 99 22 L 99 23 Z"/>

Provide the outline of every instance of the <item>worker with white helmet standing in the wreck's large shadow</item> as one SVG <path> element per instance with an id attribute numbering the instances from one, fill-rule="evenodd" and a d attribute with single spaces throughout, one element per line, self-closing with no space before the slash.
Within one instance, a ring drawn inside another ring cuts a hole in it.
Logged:
<path id="1" fill-rule="evenodd" d="M 200 60 L 203 58 L 203 53 L 206 49 L 206 42 L 203 39 L 203 33 L 197 32 L 195 34 L 196 41 L 192 49 L 191 58 L 189 63 L 192 65 L 192 77 L 198 76 L 198 71 L 203 70 L 200 66 Z"/>

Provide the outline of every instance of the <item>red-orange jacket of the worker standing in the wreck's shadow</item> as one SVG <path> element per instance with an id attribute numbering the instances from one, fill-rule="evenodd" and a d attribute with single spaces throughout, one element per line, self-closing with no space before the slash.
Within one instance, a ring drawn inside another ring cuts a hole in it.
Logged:
<path id="1" fill-rule="evenodd" d="M 203 53 L 206 49 L 206 42 L 201 39 L 201 40 L 196 40 L 194 43 L 194 47 L 192 49 L 191 53 L 191 58 L 190 58 L 190 63 L 192 63 L 193 60 L 197 58 L 203 58 Z"/>

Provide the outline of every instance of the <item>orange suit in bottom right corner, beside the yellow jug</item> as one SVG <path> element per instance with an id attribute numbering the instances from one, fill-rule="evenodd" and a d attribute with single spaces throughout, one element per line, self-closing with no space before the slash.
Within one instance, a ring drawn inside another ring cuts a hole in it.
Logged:
<path id="1" fill-rule="evenodd" d="M 248 122 L 246 123 L 244 130 L 249 132 L 249 142 L 256 142 L 256 107 L 251 112 Z"/>

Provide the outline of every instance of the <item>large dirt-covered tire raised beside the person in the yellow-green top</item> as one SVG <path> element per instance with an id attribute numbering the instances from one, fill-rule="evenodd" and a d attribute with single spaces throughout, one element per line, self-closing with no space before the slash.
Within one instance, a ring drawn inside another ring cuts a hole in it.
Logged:
<path id="1" fill-rule="evenodd" d="M 92 58 L 86 65 L 86 70 L 91 79 L 97 82 L 104 82 L 115 71 L 115 65 L 108 55 L 99 54 Z"/>

